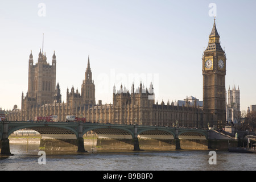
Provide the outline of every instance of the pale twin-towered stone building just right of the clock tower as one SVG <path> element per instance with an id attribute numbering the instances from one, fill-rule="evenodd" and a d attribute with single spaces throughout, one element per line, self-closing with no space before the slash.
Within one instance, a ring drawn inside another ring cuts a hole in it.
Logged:
<path id="1" fill-rule="evenodd" d="M 238 123 L 240 118 L 240 89 L 236 90 L 236 85 L 232 90 L 229 87 L 228 90 L 228 104 L 226 105 L 226 120 L 233 121 L 234 124 Z"/>

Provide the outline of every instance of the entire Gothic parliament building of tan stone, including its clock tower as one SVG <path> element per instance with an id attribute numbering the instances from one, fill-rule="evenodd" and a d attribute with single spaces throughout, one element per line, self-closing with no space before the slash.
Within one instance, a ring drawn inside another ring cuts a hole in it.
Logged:
<path id="1" fill-rule="evenodd" d="M 102 104 L 95 100 L 95 85 L 90 68 L 90 58 L 82 80 L 81 91 L 67 88 L 67 101 L 61 101 L 59 83 L 56 84 L 56 55 L 51 65 L 46 54 L 39 52 L 34 64 L 32 51 L 28 60 L 28 91 L 22 93 L 21 109 L 9 111 L 9 121 L 33 120 L 37 116 L 57 115 L 65 121 L 67 115 L 85 117 L 88 122 L 180 127 L 217 127 L 225 123 L 226 56 L 220 46 L 216 23 L 209 35 L 208 47 L 202 58 L 203 104 L 194 97 L 182 102 L 155 103 L 154 87 L 144 88 L 142 83 L 127 90 L 113 86 L 113 103 Z"/>

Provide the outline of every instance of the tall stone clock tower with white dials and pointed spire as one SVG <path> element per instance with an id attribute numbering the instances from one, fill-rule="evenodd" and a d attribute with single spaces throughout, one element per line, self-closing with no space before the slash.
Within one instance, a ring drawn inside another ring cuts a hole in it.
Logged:
<path id="1" fill-rule="evenodd" d="M 215 18 L 202 60 L 204 127 L 221 128 L 226 120 L 226 55 L 220 45 Z"/>

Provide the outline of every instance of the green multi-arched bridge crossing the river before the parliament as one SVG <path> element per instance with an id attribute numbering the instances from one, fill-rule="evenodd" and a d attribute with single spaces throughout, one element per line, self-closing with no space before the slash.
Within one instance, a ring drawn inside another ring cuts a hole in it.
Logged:
<path id="1" fill-rule="evenodd" d="M 208 129 L 81 122 L 1 121 L 2 155 L 11 154 L 9 136 L 20 129 L 38 131 L 42 136 L 40 140 L 42 150 L 51 150 L 54 145 L 55 148 L 58 148 L 58 145 L 63 146 L 63 143 L 60 144 L 59 142 L 64 142 L 73 144 L 77 148 L 77 152 L 86 152 L 83 135 L 88 131 L 94 131 L 98 135 L 98 147 L 108 148 L 111 146 L 118 149 L 127 147 L 132 150 L 143 150 L 143 147 L 152 149 L 154 146 L 156 148 L 162 146 L 170 150 L 181 150 L 189 145 L 191 146 L 191 143 L 193 143 L 192 148 L 195 148 L 195 142 L 197 143 L 196 146 L 203 145 L 203 149 L 207 149 L 210 148 L 209 143 L 211 142 L 209 140 L 213 138 Z M 182 144 L 180 143 L 181 140 Z M 199 147 L 199 149 L 202 149 L 202 147 Z"/>

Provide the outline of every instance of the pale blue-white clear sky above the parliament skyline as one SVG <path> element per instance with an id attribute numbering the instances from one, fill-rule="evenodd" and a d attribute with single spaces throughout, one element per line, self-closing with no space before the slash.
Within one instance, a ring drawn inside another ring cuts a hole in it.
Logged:
<path id="1" fill-rule="evenodd" d="M 210 6 L 214 3 L 216 8 Z M 43 6 L 42 6 L 43 5 Z M 28 59 L 42 48 L 57 60 L 56 84 L 81 92 L 90 56 L 96 103 L 113 103 L 113 85 L 155 89 L 155 102 L 203 100 L 202 57 L 213 27 L 226 52 L 226 90 L 238 85 L 241 110 L 256 104 L 256 1 L 0 1 L 0 107 L 21 106 Z"/>

